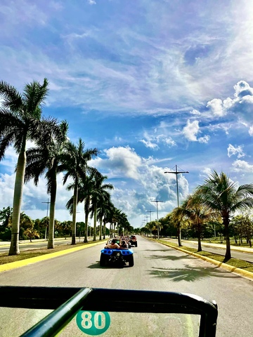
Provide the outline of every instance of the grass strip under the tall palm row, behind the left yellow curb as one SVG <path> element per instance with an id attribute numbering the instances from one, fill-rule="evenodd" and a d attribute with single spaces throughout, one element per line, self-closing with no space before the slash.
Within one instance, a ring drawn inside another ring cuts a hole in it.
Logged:
<path id="1" fill-rule="evenodd" d="M 30 249 L 29 251 L 20 251 L 19 255 L 12 255 L 12 256 L 8 256 L 8 252 L 0 253 L 0 265 L 4 265 L 5 263 L 11 263 L 11 262 L 20 261 L 20 260 L 25 260 L 27 258 L 34 258 L 37 256 L 54 253 L 56 251 L 64 251 L 65 249 L 70 249 L 73 247 L 86 246 L 91 243 L 93 242 L 86 242 L 86 243 L 82 242 L 82 243 L 78 243 L 75 245 L 63 244 L 60 246 L 55 246 L 55 248 L 53 249 L 47 249 L 47 247 L 41 248 L 41 249 Z"/>

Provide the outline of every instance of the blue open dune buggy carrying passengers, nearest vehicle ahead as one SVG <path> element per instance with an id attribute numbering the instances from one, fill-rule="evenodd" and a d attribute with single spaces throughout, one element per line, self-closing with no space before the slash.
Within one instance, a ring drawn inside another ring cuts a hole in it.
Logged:
<path id="1" fill-rule="evenodd" d="M 134 265 L 134 251 L 132 249 L 102 249 L 100 254 L 101 267 L 106 265 L 124 267 L 127 264 L 129 267 Z"/>

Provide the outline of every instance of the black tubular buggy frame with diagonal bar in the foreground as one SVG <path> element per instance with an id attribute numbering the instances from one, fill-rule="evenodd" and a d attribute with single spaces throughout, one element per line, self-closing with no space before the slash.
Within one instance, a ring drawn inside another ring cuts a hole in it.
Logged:
<path id="1" fill-rule="evenodd" d="M 200 315 L 199 337 L 214 337 L 216 302 L 190 293 L 101 288 L 0 286 L 0 307 L 54 310 L 22 337 L 53 337 L 79 310 Z"/>

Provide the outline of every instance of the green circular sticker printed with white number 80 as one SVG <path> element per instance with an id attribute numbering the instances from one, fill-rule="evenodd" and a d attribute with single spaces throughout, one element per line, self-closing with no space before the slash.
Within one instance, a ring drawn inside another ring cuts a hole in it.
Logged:
<path id="1" fill-rule="evenodd" d="M 77 326 L 87 335 L 98 336 L 110 326 L 110 315 L 102 311 L 84 311 L 77 313 Z"/>

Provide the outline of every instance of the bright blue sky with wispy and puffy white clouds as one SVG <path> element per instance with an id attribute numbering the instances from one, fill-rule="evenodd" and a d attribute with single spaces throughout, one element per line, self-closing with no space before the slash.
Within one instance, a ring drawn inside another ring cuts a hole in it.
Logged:
<path id="1" fill-rule="evenodd" d="M 45 117 L 114 185 L 133 227 L 165 216 L 214 170 L 253 183 L 252 0 L 1 0 L 0 79 L 22 93 L 49 81 Z M 0 162 L 0 209 L 13 206 L 17 154 Z M 58 176 L 56 219 L 71 191 Z M 22 211 L 46 216 L 46 180 Z M 161 202 L 154 202 L 160 200 Z M 77 221 L 84 220 L 79 204 Z"/>

